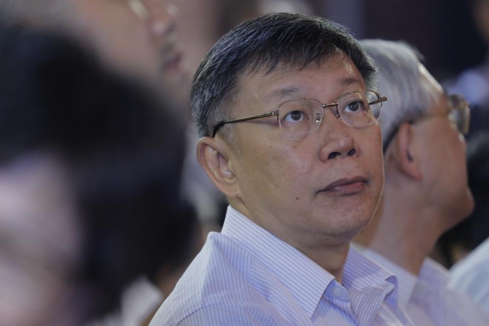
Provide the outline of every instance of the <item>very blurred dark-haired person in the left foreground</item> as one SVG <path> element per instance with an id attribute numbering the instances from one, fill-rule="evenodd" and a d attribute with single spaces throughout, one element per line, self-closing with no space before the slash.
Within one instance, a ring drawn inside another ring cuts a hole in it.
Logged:
<path id="1" fill-rule="evenodd" d="M 84 324 L 141 274 L 159 285 L 185 266 L 196 220 L 167 104 L 19 28 L 0 29 L 0 71 L 2 325 Z"/>

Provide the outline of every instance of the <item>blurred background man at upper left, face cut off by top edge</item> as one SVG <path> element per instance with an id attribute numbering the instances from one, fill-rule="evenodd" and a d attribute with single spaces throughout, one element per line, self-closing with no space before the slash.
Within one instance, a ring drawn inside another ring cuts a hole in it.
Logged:
<path id="1" fill-rule="evenodd" d="M 174 108 L 179 121 L 187 123 L 190 114 L 187 110 L 188 85 L 185 82 L 189 82 L 189 78 L 181 64 L 182 54 L 175 35 L 177 11 L 169 0 L 0 2 L 0 16 L 5 21 L 75 37 L 88 49 L 94 50 L 105 64 L 131 78 L 144 81 L 161 96 L 166 96 L 165 101 L 174 102 L 170 108 Z M 218 191 L 204 176 L 195 158 L 193 148 L 197 137 L 194 128 L 184 124 L 182 129 L 187 132 L 186 143 L 191 144 L 187 148 L 192 148 L 183 162 L 182 193 L 196 206 L 199 216 L 213 221 L 217 217 Z M 201 242 L 199 234 L 194 234 L 194 237 L 196 243 Z M 171 273 L 168 279 L 176 283 L 178 275 Z M 167 285 L 160 288 L 162 293 L 156 295 L 154 286 L 144 283 L 141 280 L 134 285 L 141 290 L 141 296 L 145 296 L 143 289 L 146 288 L 147 296 L 161 301 L 168 292 Z M 133 292 L 132 287 L 127 290 L 131 297 L 134 297 L 130 294 Z M 121 300 L 125 301 L 124 298 Z M 137 302 L 134 304 L 138 305 Z M 132 311 L 133 308 L 129 306 L 127 310 Z"/>

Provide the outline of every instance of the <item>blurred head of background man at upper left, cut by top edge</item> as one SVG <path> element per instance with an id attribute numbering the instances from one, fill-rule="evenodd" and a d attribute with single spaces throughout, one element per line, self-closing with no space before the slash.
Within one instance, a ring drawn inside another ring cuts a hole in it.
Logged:
<path id="1" fill-rule="evenodd" d="M 69 33 L 92 46 L 120 71 L 154 81 L 180 83 L 184 73 L 175 40 L 177 8 L 159 0 L 6 0 L 0 15 L 20 23 Z"/>

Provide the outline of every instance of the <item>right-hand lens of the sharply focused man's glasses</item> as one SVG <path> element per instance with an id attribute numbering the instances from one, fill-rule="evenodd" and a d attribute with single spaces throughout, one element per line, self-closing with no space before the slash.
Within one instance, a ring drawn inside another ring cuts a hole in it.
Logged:
<path id="1" fill-rule="evenodd" d="M 343 121 L 352 127 L 374 123 L 381 116 L 382 102 L 377 93 L 357 91 L 338 98 L 338 113 Z"/>

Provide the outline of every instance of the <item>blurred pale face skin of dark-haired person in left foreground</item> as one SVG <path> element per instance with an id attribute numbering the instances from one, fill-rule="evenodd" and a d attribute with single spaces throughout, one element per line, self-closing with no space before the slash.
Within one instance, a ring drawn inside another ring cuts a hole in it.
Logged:
<path id="1" fill-rule="evenodd" d="M 80 226 L 63 166 L 49 155 L 23 156 L 0 169 L 2 324 L 76 324 L 71 279 Z"/>

